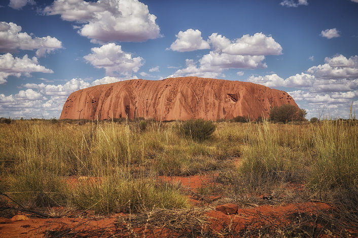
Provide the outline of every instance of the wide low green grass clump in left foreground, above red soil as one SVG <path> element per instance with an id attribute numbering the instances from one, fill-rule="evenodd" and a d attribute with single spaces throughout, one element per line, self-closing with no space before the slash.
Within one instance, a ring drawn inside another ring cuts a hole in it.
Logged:
<path id="1" fill-rule="evenodd" d="M 154 178 L 104 177 L 101 182 L 83 182 L 75 189 L 73 203 L 97 213 L 138 212 L 144 209 L 187 208 L 180 186 Z"/>

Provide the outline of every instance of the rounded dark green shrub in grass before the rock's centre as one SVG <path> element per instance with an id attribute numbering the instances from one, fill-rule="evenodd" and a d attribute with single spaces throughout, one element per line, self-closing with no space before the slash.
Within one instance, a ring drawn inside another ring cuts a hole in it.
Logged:
<path id="1" fill-rule="evenodd" d="M 216 126 L 212 121 L 202 119 L 186 121 L 182 126 L 183 133 L 196 141 L 208 139 L 215 129 Z"/>

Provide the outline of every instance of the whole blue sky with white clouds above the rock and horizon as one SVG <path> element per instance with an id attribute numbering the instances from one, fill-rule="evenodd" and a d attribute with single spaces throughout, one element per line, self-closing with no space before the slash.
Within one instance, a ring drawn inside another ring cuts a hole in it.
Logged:
<path id="1" fill-rule="evenodd" d="M 202 76 L 358 113 L 358 0 L 3 0 L 0 116 L 59 117 L 73 91 Z"/>

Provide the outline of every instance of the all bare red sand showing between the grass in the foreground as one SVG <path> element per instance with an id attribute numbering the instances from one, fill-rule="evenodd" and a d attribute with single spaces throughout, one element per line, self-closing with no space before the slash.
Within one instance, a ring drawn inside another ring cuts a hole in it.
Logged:
<path id="1" fill-rule="evenodd" d="M 212 176 L 212 175 L 211 175 Z M 196 175 L 189 177 L 165 177 L 160 176 L 160 179 L 171 182 L 181 182 L 184 187 L 192 191 L 196 191 L 197 188 L 201 187 L 210 182 L 210 176 L 208 175 Z M 100 178 L 68 178 L 67 182 L 71 186 L 76 186 L 79 182 L 99 182 Z M 297 186 L 297 185 L 296 185 Z M 190 200 L 192 204 L 199 203 L 197 200 Z M 285 214 L 291 212 L 314 212 L 315 208 L 319 209 L 330 209 L 331 206 L 323 203 L 304 203 L 304 204 L 289 204 L 284 206 L 258 206 L 255 208 L 239 208 L 237 213 L 234 215 L 226 215 L 223 212 L 212 210 L 205 213 L 206 216 L 211 217 L 209 221 L 211 223 L 211 228 L 216 231 L 220 231 L 224 226 L 226 227 L 229 224 L 232 224 L 233 230 L 240 230 L 244 227 L 245 224 L 255 221 L 258 218 L 258 215 L 264 216 L 275 216 L 282 217 Z M 19 213 L 21 214 L 21 213 Z M 26 214 L 21 214 L 26 215 Z M 59 218 L 59 219 L 42 219 L 42 218 L 30 218 L 28 220 L 19 220 L 13 221 L 11 219 L 0 218 L 0 237 L 45 237 L 46 231 L 53 230 L 55 228 L 62 227 L 62 230 L 66 228 L 71 229 L 83 229 L 90 228 L 91 226 L 95 228 L 102 228 L 103 237 L 108 237 L 114 234 L 116 227 L 114 222 L 116 221 L 117 216 L 125 216 L 125 214 L 116 214 L 108 218 L 102 218 L 97 220 L 88 220 L 88 218 Z M 86 222 L 86 226 L 79 225 L 80 223 Z M 118 233 L 117 233 L 118 234 Z M 161 233 L 161 237 L 165 237 L 165 233 Z"/>

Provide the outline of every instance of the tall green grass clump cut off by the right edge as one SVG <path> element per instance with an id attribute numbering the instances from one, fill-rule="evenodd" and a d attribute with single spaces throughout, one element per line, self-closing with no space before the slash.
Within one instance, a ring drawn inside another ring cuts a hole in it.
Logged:
<path id="1" fill-rule="evenodd" d="M 342 121 L 321 121 L 310 127 L 313 165 L 309 181 L 314 189 L 357 189 L 358 127 Z"/>

